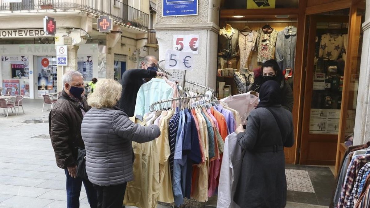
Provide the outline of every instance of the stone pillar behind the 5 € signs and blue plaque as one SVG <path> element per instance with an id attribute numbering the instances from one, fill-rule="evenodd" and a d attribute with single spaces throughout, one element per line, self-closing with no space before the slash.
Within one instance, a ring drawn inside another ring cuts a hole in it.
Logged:
<path id="1" fill-rule="evenodd" d="M 197 16 L 162 17 L 162 1 L 158 0 L 157 24 L 154 28 L 159 44 L 159 60 L 166 50 L 173 49 L 174 35 L 199 35 L 199 54 L 195 54 L 195 69 L 186 78 L 216 89 L 217 46 L 219 34 L 219 0 L 198 0 Z"/>

